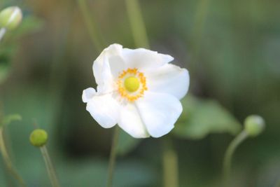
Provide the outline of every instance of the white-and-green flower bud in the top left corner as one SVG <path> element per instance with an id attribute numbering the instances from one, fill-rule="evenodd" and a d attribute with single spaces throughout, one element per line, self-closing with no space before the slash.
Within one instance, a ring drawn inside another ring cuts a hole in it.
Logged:
<path id="1" fill-rule="evenodd" d="M 10 6 L 0 12 L 0 28 L 13 30 L 20 25 L 21 20 L 22 11 L 18 6 Z"/>

